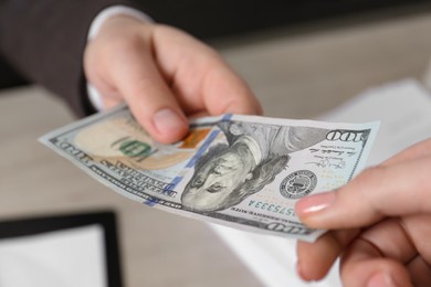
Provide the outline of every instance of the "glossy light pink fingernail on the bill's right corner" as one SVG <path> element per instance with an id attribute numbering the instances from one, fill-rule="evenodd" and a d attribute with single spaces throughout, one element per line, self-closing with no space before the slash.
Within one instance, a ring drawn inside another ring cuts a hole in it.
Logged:
<path id="1" fill-rule="evenodd" d="M 296 203 L 295 211 L 298 216 L 309 215 L 322 211 L 333 204 L 335 201 L 334 192 L 324 192 L 311 195 L 299 200 Z"/>

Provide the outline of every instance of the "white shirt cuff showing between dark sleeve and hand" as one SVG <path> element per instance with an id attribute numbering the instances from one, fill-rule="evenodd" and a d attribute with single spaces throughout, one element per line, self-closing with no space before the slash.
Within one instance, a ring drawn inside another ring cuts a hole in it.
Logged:
<path id="1" fill-rule="evenodd" d="M 87 41 L 91 41 L 94 36 L 97 35 L 102 25 L 105 23 L 107 19 L 114 15 L 128 15 L 133 17 L 144 23 L 153 23 L 154 20 L 148 17 L 146 13 L 143 13 L 136 9 L 126 7 L 126 6 L 113 6 L 102 10 L 93 20 L 90 25 Z M 87 94 L 90 98 L 90 103 L 97 110 L 105 110 L 105 106 L 102 100 L 102 95 L 90 82 L 87 82 Z"/>

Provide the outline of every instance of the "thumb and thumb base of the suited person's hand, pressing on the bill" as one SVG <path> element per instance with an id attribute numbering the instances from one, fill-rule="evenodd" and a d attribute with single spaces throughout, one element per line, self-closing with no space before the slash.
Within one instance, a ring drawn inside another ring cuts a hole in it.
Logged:
<path id="1" fill-rule="evenodd" d="M 188 121 L 155 63 L 151 33 L 150 25 L 125 17 L 114 18 L 103 26 L 99 39 L 94 40 L 94 52 L 86 54 L 87 74 L 93 75 L 91 78 L 103 92 L 108 91 L 105 98 L 113 98 L 109 94 L 120 95 L 156 140 L 172 142 L 187 132 Z"/>

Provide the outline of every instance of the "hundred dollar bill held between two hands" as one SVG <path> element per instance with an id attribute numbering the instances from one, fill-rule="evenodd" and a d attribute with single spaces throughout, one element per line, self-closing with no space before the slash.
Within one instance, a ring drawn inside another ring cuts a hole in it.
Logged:
<path id="1" fill-rule="evenodd" d="M 40 140 L 145 205 L 313 242 L 324 231 L 304 226 L 295 215 L 295 202 L 355 177 L 377 129 L 378 123 L 224 115 L 191 121 L 181 141 L 161 145 L 127 107 L 119 107 Z"/>

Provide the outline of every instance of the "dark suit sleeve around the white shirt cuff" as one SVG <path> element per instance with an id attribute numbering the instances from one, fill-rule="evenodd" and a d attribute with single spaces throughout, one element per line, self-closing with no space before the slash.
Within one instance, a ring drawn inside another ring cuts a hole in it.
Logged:
<path id="1" fill-rule="evenodd" d="M 0 53 L 29 79 L 64 98 L 78 115 L 92 113 L 83 73 L 83 51 L 95 15 L 127 0 L 3 0 Z"/>

